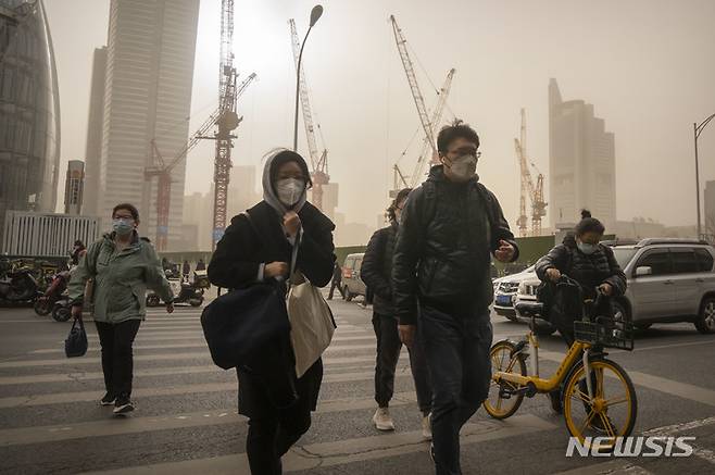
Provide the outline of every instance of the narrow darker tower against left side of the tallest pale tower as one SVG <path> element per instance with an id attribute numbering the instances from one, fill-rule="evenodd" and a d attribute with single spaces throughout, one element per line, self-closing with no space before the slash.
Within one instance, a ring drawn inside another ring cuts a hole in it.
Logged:
<path id="1" fill-rule="evenodd" d="M 87 121 L 87 147 L 85 149 L 85 204 L 84 212 L 96 216 L 99 212 L 99 171 L 102 155 L 102 129 L 104 123 L 104 78 L 106 74 L 106 47 L 95 49 L 92 84 L 89 91 L 89 117 Z"/>

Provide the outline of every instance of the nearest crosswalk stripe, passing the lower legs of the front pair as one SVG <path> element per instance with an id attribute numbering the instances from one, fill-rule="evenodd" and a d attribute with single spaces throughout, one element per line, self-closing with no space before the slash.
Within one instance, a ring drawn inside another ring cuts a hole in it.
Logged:
<path id="1" fill-rule="evenodd" d="M 556 427 L 554 424 L 531 414 L 516 415 L 503 422 L 479 421 L 464 426 L 460 442 L 465 446 L 549 430 L 554 427 Z M 343 465 L 351 462 L 379 460 L 416 452 L 427 452 L 427 445 L 423 440 L 419 430 L 297 446 L 284 457 L 283 464 L 285 472 L 297 472 L 308 471 L 318 466 Z M 427 461 L 426 455 L 425 461 Z M 181 475 L 201 473 L 202 475 L 211 475 L 249 472 L 246 454 L 241 453 L 92 473 L 104 475 Z"/>

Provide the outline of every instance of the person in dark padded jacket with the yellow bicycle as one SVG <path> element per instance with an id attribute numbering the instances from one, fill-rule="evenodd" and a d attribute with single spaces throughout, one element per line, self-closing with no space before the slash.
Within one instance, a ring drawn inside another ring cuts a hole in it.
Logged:
<path id="1" fill-rule="evenodd" d="M 542 282 L 553 284 L 552 301 L 548 309 L 549 321 L 559 329 L 567 347 L 574 343 L 574 320 L 584 314 L 584 300 L 597 301 L 597 289 L 606 299 L 600 302 L 593 313 L 599 316 L 614 318 L 613 297 L 623 296 L 626 291 L 626 275 L 620 270 L 613 250 L 601 245 L 605 227 L 591 217 L 588 210 L 581 211 L 581 221 L 576 226 L 574 235 L 564 238 L 563 243 L 553 248 L 536 263 L 537 276 Z M 579 289 L 569 286 L 559 286 L 555 283 L 562 275 L 576 280 Z M 620 316 L 623 318 L 626 315 Z M 549 393 L 551 405 L 555 412 L 562 411 L 561 390 Z"/>

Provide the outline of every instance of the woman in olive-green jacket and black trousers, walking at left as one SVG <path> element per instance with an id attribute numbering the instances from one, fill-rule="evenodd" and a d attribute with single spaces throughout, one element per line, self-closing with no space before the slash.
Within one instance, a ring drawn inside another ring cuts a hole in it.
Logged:
<path id="1" fill-rule="evenodd" d="M 174 311 L 174 295 L 154 247 L 139 238 L 139 212 L 128 203 L 112 211 L 112 233 L 89 246 L 68 285 L 72 315 L 81 318 L 85 285 L 93 279 L 93 320 L 102 349 L 106 393 L 102 405 L 114 404 L 115 414 L 134 411 L 131 346 L 146 317 L 145 295 L 154 290 Z"/>

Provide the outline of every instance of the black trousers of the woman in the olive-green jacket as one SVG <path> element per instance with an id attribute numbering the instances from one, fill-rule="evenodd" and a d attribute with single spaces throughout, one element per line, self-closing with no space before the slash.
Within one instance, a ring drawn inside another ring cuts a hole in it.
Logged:
<path id="1" fill-rule="evenodd" d="M 102 347 L 102 372 L 106 392 L 115 397 L 131 396 L 134 358 L 131 345 L 137 336 L 140 320 L 122 323 L 95 322 Z"/>

